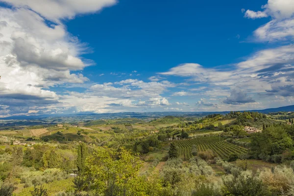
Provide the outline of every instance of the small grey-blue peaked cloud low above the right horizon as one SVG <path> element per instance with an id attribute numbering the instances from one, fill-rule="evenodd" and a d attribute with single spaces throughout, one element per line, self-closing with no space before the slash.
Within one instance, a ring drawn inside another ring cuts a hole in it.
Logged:
<path id="1" fill-rule="evenodd" d="M 251 97 L 247 97 L 247 93 L 239 89 L 233 89 L 231 91 L 231 95 L 227 97 L 225 100 L 223 100 L 223 103 L 233 104 L 233 105 L 252 103 L 252 102 L 255 102 L 255 100 L 253 100 L 253 98 Z"/>

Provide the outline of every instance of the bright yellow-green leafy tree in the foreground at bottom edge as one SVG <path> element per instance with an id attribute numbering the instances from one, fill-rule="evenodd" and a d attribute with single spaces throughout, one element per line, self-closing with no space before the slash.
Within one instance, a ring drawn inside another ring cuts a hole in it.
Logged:
<path id="1" fill-rule="evenodd" d="M 138 175 L 142 166 L 140 158 L 120 148 L 95 151 L 86 159 L 83 171 L 76 177 L 76 187 L 94 195 L 145 196 L 144 180 Z"/>

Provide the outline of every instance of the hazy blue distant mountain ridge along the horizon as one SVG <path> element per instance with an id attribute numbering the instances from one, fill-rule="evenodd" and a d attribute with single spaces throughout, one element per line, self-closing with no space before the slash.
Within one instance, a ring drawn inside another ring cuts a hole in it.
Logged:
<path id="1" fill-rule="evenodd" d="M 242 110 L 242 111 L 255 111 L 261 113 L 271 113 L 271 112 L 292 112 L 294 111 L 294 105 L 288 105 L 278 108 L 268 108 L 262 110 Z M 77 113 L 77 114 L 65 114 L 65 115 L 38 115 L 38 116 L 10 116 L 5 118 L 0 118 L 0 120 L 45 120 L 48 122 L 50 119 L 52 121 L 62 122 L 65 119 L 80 119 L 80 120 L 98 120 L 98 119 L 114 119 L 114 118 L 160 118 L 164 116 L 201 116 L 208 114 L 226 114 L 230 111 L 222 112 L 124 112 L 124 113 Z"/>

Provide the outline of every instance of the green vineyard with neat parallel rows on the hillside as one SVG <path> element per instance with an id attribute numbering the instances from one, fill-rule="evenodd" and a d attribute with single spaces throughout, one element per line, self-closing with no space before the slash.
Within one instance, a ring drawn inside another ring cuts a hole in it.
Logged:
<path id="1" fill-rule="evenodd" d="M 218 136 L 198 137 L 187 140 L 179 140 L 174 142 L 179 147 L 180 157 L 184 160 L 189 160 L 193 157 L 191 148 L 196 145 L 197 151 L 205 151 L 211 149 L 216 155 L 222 159 L 227 159 L 230 154 L 244 154 L 247 149 L 239 147 L 231 143 L 225 142 L 223 138 Z"/>

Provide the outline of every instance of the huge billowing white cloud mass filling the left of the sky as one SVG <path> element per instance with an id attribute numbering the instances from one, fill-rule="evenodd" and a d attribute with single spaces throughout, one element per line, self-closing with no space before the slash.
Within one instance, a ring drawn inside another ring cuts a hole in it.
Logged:
<path id="1" fill-rule="evenodd" d="M 0 113 L 53 112 L 62 98 L 50 87 L 89 81 L 83 74 L 73 71 L 94 64 L 80 57 L 85 45 L 67 32 L 60 19 L 99 11 L 116 1 L 4 2 L 13 8 L 0 8 L 0 102 L 5 105 Z M 21 106 L 25 109 L 20 110 Z"/>

